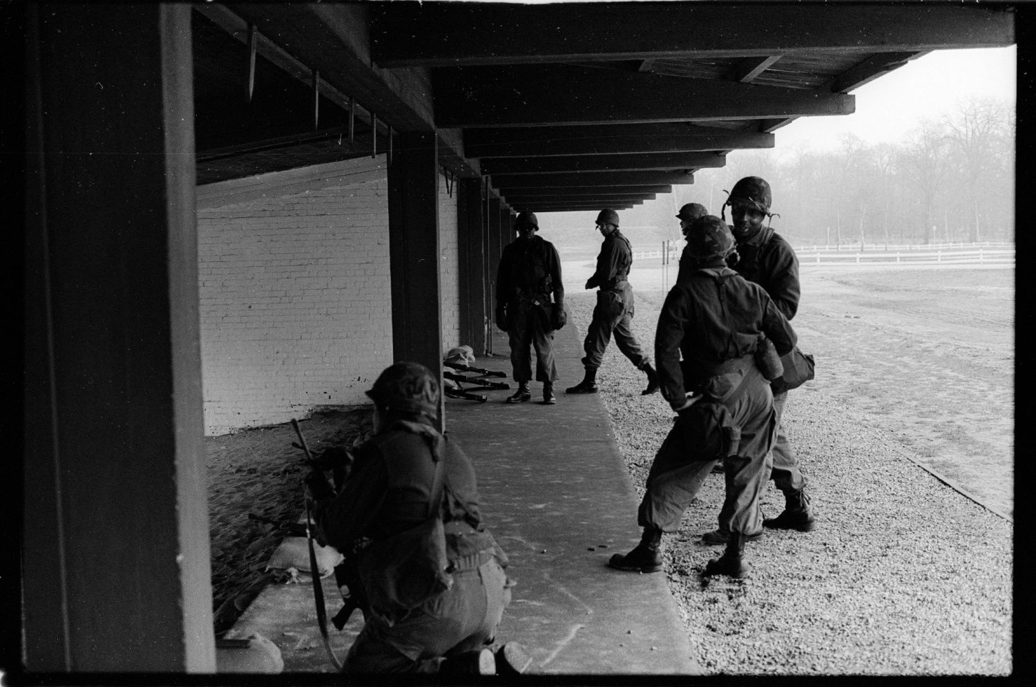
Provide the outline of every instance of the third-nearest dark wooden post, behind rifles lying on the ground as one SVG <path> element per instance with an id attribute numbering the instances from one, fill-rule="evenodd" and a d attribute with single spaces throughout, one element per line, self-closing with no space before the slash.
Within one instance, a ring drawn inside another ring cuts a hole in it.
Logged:
<path id="1" fill-rule="evenodd" d="M 460 245 L 461 343 L 486 353 L 492 308 L 488 302 L 486 236 L 483 230 L 482 181 L 460 179 L 457 184 L 457 240 Z"/>

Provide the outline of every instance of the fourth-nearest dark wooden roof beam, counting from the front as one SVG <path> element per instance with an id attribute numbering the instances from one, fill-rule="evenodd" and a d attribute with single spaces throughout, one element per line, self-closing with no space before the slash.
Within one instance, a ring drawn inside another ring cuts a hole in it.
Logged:
<path id="1" fill-rule="evenodd" d="M 726 155 L 713 152 L 648 152 L 554 158 L 483 158 L 480 162 L 483 174 L 542 174 L 723 167 L 726 164 Z"/>

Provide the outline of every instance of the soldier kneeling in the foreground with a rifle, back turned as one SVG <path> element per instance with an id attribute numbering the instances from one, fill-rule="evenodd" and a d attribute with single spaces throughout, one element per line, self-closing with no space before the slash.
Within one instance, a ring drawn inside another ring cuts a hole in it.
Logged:
<path id="1" fill-rule="evenodd" d="M 482 524 L 470 461 L 435 429 L 438 379 L 423 365 L 396 363 L 367 395 L 374 402 L 374 435 L 355 450 L 341 491 L 336 494 L 318 469 L 306 479 L 319 536 L 354 562 L 364 588 L 357 596 L 367 600 L 366 623 L 343 669 L 523 671 L 530 659 L 520 646 L 495 655 L 488 649 L 513 583 L 503 571 L 507 555 Z M 364 556 L 372 551 L 380 561 L 425 550 L 406 533 L 419 532 L 430 516 L 441 518 L 445 533 L 442 584 L 414 591 L 408 578 L 394 576 L 402 574 L 398 568 L 364 575 Z"/>

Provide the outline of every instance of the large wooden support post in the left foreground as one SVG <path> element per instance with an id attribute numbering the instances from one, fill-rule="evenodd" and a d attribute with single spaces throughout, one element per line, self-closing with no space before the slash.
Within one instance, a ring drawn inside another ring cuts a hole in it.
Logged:
<path id="1" fill-rule="evenodd" d="M 192 11 L 26 6 L 32 672 L 215 670 Z"/>

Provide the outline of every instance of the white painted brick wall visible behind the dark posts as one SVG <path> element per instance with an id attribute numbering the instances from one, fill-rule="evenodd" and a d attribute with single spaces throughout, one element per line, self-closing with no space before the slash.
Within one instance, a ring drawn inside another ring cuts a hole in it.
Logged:
<path id="1" fill-rule="evenodd" d="M 306 170 L 199 188 L 206 434 L 366 404 L 392 363 L 383 160 Z"/>

